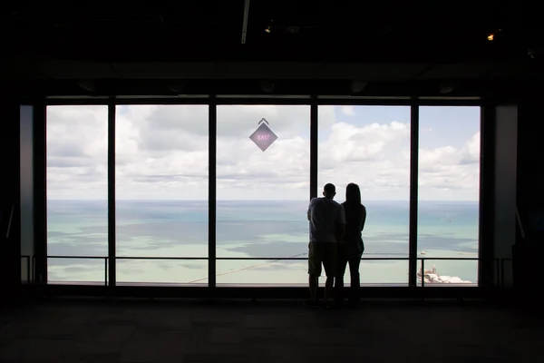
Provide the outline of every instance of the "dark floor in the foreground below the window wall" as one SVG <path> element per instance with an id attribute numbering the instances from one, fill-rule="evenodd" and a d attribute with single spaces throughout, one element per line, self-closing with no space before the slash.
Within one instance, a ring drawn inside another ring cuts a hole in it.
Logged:
<path id="1" fill-rule="evenodd" d="M 44 302 L 0 314 L 9 362 L 543 362 L 542 320 L 479 306 Z"/>

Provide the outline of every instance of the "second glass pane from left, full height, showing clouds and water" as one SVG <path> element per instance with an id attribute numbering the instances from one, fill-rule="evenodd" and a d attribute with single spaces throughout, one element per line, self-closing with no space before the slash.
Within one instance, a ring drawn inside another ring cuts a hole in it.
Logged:
<path id="1" fill-rule="evenodd" d="M 207 259 L 208 106 L 118 106 L 115 127 L 117 256 Z M 119 283 L 192 277 L 165 277 L 186 261 L 118 262 Z"/>

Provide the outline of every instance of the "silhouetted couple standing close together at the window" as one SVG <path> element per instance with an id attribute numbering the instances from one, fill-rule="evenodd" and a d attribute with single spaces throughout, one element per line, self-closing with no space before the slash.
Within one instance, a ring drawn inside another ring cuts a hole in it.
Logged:
<path id="1" fill-rule="evenodd" d="M 334 200 L 336 188 L 327 183 L 323 197 L 313 198 L 308 206 L 307 217 L 310 222 L 310 243 L 308 245 L 308 283 L 310 299 L 308 305 L 318 307 L 317 286 L 322 266 L 325 269 L 325 297 L 323 306 L 332 305 L 333 292 L 336 307 L 344 304 L 344 275 L 349 266 L 351 285 L 349 306 L 359 303 L 359 266 L 364 252 L 361 237 L 366 221 L 366 208 L 361 203 L 361 190 L 355 183 L 345 188 L 345 202 Z"/>

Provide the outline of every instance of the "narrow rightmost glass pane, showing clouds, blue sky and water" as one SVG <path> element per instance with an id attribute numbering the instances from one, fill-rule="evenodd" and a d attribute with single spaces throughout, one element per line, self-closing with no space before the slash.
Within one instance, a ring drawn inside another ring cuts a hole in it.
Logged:
<path id="1" fill-rule="evenodd" d="M 480 107 L 420 107 L 419 123 L 418 257 L 477 258 Z M 477 282 L 477 263 L 461 262 L 425 267 Z"/>

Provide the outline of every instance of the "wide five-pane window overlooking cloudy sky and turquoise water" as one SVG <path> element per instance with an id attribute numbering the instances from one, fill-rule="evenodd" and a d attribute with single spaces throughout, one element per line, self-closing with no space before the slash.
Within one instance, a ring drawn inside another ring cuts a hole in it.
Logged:
<path id="1" fill-rule="evenodd" d="M 417 278 L 476 284 L 480 107 L 419 110 Z M 209 106 L 115 113 L 117 283 L 208 284 Z M 408 282 L 410 117 L 407 106 L 318 108 L 317 195 L 332 182 L 343 202 L 360 186 L 363 284 Z M 108 107 L 48 106 L 46 118 L 49 283 L 102 284 Z M 217 283 L 306 285 L 310 106 L 219 105 L 217 133 Z"/>

